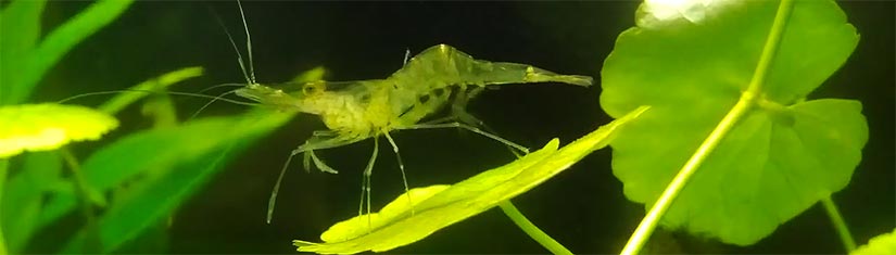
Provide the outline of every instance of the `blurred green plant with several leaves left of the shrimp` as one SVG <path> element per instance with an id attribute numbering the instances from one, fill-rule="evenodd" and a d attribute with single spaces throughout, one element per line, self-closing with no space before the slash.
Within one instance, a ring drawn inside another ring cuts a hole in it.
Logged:
<path id="1" fill-rule="evenodd" d="M 251 112 L 178 124 L 165 88 L 202 75 L 200 67 L 141 82 L 130 89 L 135 92 L 121 93 L 96 110 L 61 103 L 20 104 L 47 69 L 78 41 L 114 21 L 130 1 L 96 2 L 38 40 L 45 3 L 13 1 L 0 13 L 0 254 L 20 253 L 38 230 L 78 208 L 87 224 L 72 239 L 38 243 L 61 243 L 67 253 L 114 252 L 168 217 L 232 158 L 231 153 L 291 116 Z M 118 126 L 112 115 L 141 98 L 159 94 L 143 107 L 153 128 L 128 133 L 84 162 L 65 148 L 70 141 L 99 139 Z M 232 131 L 191 139 L 225 127 Z M 25 151 L 34 153 L 10 158 Z M 62 171 L 63 162 L 71 174 Z"/>

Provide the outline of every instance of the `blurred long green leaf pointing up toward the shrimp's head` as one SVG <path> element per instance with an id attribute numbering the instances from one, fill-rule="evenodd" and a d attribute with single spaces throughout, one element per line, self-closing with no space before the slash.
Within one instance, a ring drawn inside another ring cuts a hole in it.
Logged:
<path id="1" fill-rule="evenodd" d="M 198 161 L 212 151 L 220 151 L 234 142 L 269 132 L 291 116 L 283 113 L 250 113 L 245 116 L 199 119 L 179 127 L 138 132 L 87 158 L 83 166 L 85 179 L 93 189 L 108 191 L 147 170 L 172 169 L 185 162 Z M 56 195 L 41 213 L 39 225 L 47 226 L 55 221 L 74 209 L 75 205 L 74 196 Z"/>

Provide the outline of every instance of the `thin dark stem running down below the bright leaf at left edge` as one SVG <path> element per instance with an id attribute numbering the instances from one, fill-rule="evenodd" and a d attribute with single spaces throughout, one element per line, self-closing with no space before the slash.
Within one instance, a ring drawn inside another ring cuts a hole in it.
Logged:
<path id="1" fill-rule="evenodd" d="M 65 161 L 65 164 L 68 165 L 68 169 L 72 170 L 72 178 L 75 182 L 75 189 L 78 193 L 78 203 L 80 204 L 80 211 L 84 215 L 84 218 L 87 220 L 87 240 L 85 242 L 85 246 L 83 248 L 84 253 L 99 253 L 102 248 L 102 242 L 100 241 L 100 232 L 99 232 L 99 225 L 97 224 L 97 216 L 93 212 L 93 205 L 90 203 L 90 191 L 87 181 L 84 179 L 84 176 L 80 174 L 80 164 L 78 164 L 78 160 L 72 154 L 71 151 L 66 148 L 62 148 L 59 150 L 60 155 Z"/>

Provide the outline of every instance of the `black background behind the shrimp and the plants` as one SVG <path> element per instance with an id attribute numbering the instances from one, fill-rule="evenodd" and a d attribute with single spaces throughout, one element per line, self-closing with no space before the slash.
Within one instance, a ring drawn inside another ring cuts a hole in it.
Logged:
<path id="1" fill-rule="evenodd" d="M 89 2 L 51 2 L 45 27 L 54 27 Z M 532 64 L 598 79 L 616 36 L 633 26 L 635 1 L 590 2 L 285 2 L 247 1 L 260 82 L 283 81 L 317 65 L 330 80 L 383 78 L 400 68 L 404 52 L 447 43 L 492 61 Z M 894 175 L 894 3 L 843 1 L 861 34 L 845 66 L 810 98 L 857 99 L 870 126 L 861 165 L 834 201 L 858 243 L 896 226 Z M 159 74 L 204 66 L 206 75 L 175 87 L 198 91 L 241 82 L 236 53 L 209 10 L 222 16 L 240 47 L 242 27 L 232 1 L 143 1 L 76 47 L 42 80 L 37 101 L 127 88 Z M 823 42 L 819 42 L 823 43 Z M 598 105 L 600 86 L 520 85 L 488 91 L 469 112 L 504 138 L 540 148 L 566 143 L 610 120 Z M 102 102 L 104 98 L 80 103 Z M 182 115 L 203 100 L 178 99 Z M 139 112 L 131 110 L 139 126 Z M 215 104 L 202 116 L 235 114 L 244 106 Z M 127 118 L 125 123 L 127 123 Z M 130 125 L 130 124 L 125 124 Z M 127 127 L 126 127 L 127 128 Z M 267 197 L 289 151 L 312 130 L 314 116 L 296 117 L 225 169 L 172 218 L 169 233 L 147 235 L 124 253 L 292 253 L 293 239 L 318 241 L 331 224 L 357 212 L 361 169 L 371 142 L 320 152 L 339 175 L 306 174 L 292 166 L 272 225 Z M 226 132 L 226 130 L 222 130 Z M 215 133 L 210 133 L 215 136 Z M 454 130 L 403 131 L 412 186 L 452 183 L 514 157 L 488 139 Z M 202 138 L 197 138 L 202 139 Z M 382 144 L 384 145 L 384 144 Z M 386 149 L 386 146 L 381 148 Z M 382 150 L 374 175 L 379 207 L 402 191 L 394 155 Z M 644 215 L 628 202 L 611 175 L 610 151 L 602 150 L 514 202 L 539 227 L 577 253 L 618 253 Z M 659 231 L 651 251 L 664 253 L 843 253 L 820 206 L 781 226 L 756 245 L 736 247 Z M 35 243 L 33 246 L 40 246 Z M 168 246 L 169 250 L 164 250 Z M 37 248 L 40 250 L 40 248 Z M 544 253 L 497 209 L 443 229 L 390 253 Z"/>

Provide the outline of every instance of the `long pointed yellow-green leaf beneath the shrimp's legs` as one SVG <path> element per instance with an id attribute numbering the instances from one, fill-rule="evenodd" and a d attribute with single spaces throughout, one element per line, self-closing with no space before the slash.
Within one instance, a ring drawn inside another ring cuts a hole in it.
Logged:
<path id="1" fill-rule="evenodd" d="M 569 168 L 589 153 L 605 146 L 616 131 L 635 119 L 647 107 L 639 107 L 624 117 L 557 150 L 557 139 L 543 149 L 507 165 L 484 171 L 452 186 L 413 189 L 399 195 L 379 213 L 362 215 L 338 222 L 320 235 L 326 243 L 293 241 L 300 252 L 354 254 L 384 252 L 419 241 L 439 229 L 513 199 Z M 624 129 L 623 129 L 624 130 Z M 369 221 L 368 221 L 369 220 Z"/>

